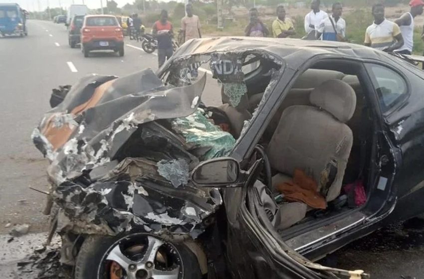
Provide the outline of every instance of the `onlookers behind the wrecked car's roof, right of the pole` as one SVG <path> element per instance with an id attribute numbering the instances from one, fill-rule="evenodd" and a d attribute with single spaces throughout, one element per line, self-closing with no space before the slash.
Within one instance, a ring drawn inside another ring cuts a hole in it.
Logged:
<path id="1" fill-rule="evenodd" d="M 311 11 L 305 15 L 305 32 L 303 39 L 348 41 L 346 39 L 346 21 L 342 18 L 343 6 L 336 2 L 332 5 L 332 14 L 320 9 L 320 0 L 312 0 Z M 424 1 L 411 0 L 411 10 L 394 22 L 385 18 L 384 4 L 373 5 L 374 22 L 365 30 L 364 44 L 387 52 L 412 54 L 414 48 L 414 18 L 423 14 Z M 258 10 L 250 9 L 250 22 L 245 35 L 275 38 L 287 38 L 296 33 L 293 22 L 286 17 L 283 5 L 277 6 L 277 18 L 272 22 L 271 32 L 259 19 Z M 422 36 L 422 38 L 424 35 Z"/>

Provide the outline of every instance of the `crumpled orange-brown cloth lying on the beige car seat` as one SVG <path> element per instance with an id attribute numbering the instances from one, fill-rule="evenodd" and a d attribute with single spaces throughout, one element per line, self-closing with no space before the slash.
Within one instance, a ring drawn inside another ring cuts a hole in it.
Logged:
<path id="1" fill-rule="evenodd" d="M 317 192 L 318 184 L 311 177 L 308 177 L 303 170 L 295 169 L 293 180 L 275 186 L 284 199 L 288 201 L 304 202 L 310 207 L 325 209 L 327 203 L 325 198 Z"/>

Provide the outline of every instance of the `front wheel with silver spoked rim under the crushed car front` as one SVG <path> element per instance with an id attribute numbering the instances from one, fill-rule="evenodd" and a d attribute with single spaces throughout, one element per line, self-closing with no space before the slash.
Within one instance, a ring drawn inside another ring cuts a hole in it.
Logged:
<path id="1" fill-rule="evenodd" d="M 185 245 L 138 233 L 88 236 L 75 263 L 75 279 L 201 279 L 196 256 Z"/>

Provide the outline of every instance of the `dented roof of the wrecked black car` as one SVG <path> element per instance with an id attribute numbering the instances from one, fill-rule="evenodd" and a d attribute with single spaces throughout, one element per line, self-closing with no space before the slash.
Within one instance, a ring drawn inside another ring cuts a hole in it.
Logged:
<path id="1" fill-rule="evenodd" d="M 344 57 L 380 59 L 387 55 L 382 51 L 359 44 L 336 41 L 258 38 L 258 37 L 213 37 L 193 39 L 182 45 L 175 57 L 215 51 L 264 51 L 284 58 L 292 65 L 303 64 L 305 60 L 319 54 L 338 54 Z"/>

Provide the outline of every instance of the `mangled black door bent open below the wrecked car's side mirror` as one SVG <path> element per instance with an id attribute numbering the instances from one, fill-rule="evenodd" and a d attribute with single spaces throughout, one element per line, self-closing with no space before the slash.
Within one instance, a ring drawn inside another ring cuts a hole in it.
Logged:
<path id="1" fill-rule="evenodd" d="M 232 278 L 368 278 L 363 271 L 337 270 L 314 264 L 280 242 L 270 230 L 264 229 L 264 224 L 258 221 L 261 218 L 248 208 L 251 201 L 246 199 L 252 186 L 261 183 L 258 178 L 264 167 L 264 159 L 261 157 L 264 153 L 260 149 L 256 147 L 254 159 L 247 164 L 244 186 L 224 189 L 228 218 L 226 256 Z"/>

